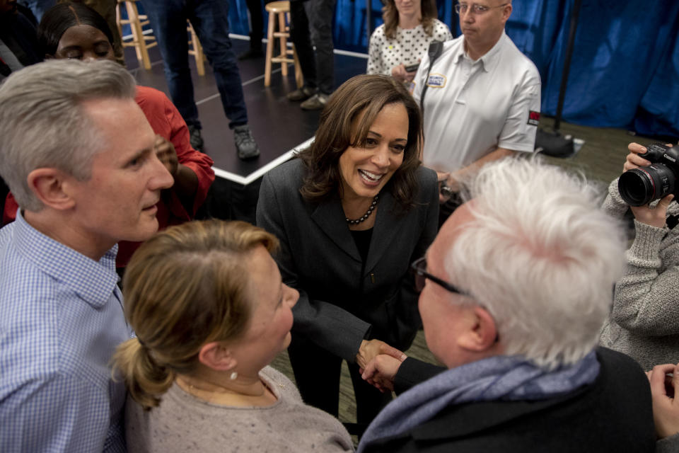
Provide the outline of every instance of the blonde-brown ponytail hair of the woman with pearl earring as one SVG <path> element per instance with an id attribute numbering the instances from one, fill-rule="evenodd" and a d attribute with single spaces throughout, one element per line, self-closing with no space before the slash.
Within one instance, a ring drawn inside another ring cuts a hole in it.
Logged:
<path id="1" fill-rule="evenodd" d="M 202 345 L 245 332 L 253 301 L 243 258 L 260 245 L 273 251 L 278 240 L 245 222 L 207 220 L 172 226 L 134 253 L 123 288 L 137 338 L 112 362 L 144 409 L 158 406 L 175 374 L 195 369 Z"/>

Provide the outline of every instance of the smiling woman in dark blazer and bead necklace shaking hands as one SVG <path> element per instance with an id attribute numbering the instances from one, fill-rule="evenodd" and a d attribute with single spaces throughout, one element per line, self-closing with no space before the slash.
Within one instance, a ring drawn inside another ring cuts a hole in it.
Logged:
<path id="1" fill-rule="evenodd" d="M 347 360 L 358 423 L 390 399 L 359 374 L 382 352 L 405 358 L 420 326 L 408 268 L 436 236 L 436 173 L 422 167 L 422 118 L 401 84 L 356 76 L 335 91 L 308 149 L 262 182 L 257 224 L 281 241 L 298 289 L 289 356 L 306 403 L 337 415 Z"/>

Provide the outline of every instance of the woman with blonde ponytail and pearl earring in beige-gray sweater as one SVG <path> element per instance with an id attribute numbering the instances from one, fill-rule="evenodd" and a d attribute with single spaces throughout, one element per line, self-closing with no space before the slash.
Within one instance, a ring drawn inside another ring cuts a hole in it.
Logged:
<path id="1" fill-rule="evenodd" d="M 290 343 L 299 297 L 269 254 L 277 243 L 215 220 L 174 226 L 134 254 L 123 286 L 137 338 L 114 357 L 129 452 L 352 451 L 342 424 L 268 366 Z"/>

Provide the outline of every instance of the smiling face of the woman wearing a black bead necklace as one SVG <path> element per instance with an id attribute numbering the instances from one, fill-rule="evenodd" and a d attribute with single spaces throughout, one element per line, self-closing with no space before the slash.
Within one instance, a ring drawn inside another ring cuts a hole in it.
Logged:
<path id="1" fill-rule="evenodd" d="M 362 114 L 355 124 L 361 120 Z M 343 197 L 372 198 L 403 162 L 408 137 L 408 114 L 401 103 L 385 105 L 368 130 L 361 147 L 348 147 L 340 156 Z"/>

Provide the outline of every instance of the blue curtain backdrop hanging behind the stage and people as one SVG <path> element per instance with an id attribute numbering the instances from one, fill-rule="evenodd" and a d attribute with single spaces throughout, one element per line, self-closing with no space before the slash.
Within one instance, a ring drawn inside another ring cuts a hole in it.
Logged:
<path id="1" fill-rule="evenodd" d="M 373 28 L 382 23 L 371 0 Z M 437 0 L 454 26 L 453 1 Z M 542 77 L 542 113 L 555 115 L 574 0 L 514 0 L 506 26 Z M 248 35 L 245 0 L 231 1 L 231 31 Z M 265 13 L 265 28 L 267 16 Z M 366 52 L 366 1 L 337 0 L 335 47 Z M 563 117 L 596 127 L 679 136 L 679 1 L 584 0 Z"/>

